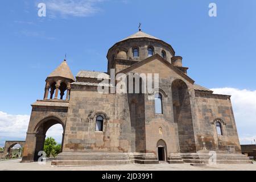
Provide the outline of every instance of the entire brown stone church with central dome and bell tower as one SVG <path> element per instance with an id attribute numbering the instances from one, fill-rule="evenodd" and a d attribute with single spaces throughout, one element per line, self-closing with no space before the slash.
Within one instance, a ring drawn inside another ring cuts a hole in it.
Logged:
<path id="1" fill-rule="evenodd" d="M 230 96 L 195 84 L 170 44 L 139 30 L 115 43 L 106 57 L 105 73 L 80 71 L 74 77 L 64 60 L 46 78 L 43 100 L 31 105 L 23 162 L 38 160 L 47 130 L 60 123 L 56 166 L 209 163 L 212 157 L 216 163 L 251 163 L 241 154 Z M 98 92 L 112 69 L 116 75 L 158 73 L 159 89 Z"/>

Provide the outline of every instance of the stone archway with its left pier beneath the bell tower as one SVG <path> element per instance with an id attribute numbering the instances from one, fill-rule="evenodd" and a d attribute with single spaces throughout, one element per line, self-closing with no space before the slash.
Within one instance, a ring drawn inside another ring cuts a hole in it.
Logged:
<path id="1" fill-rule="evenodd" d="M 26 144 L 23 152 L 23 162 L 36 161 L 42 155 L 39 155 L 40 151 L 43 151 L 44 140 L 46 139 L 46 133 L 53 125 L 60 124 L 63 127 L 63 136 L 65 124 L 61 119 L 57 117 L 48 117 L 38 122 L 35 126 L 33 133 L 27 133 Z M 63 148 L 63 138 L 61 142 L 61 150 Z"/>

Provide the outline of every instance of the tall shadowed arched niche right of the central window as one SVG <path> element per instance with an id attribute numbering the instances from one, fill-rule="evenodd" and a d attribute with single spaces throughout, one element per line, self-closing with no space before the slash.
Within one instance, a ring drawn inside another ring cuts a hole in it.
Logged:
<path id="1" fill-rule="evenodd" d="M 196 152 L 188 86 L 182 80 L 172 82 L 174 122 L 177 123 L 180 152 Z"/>

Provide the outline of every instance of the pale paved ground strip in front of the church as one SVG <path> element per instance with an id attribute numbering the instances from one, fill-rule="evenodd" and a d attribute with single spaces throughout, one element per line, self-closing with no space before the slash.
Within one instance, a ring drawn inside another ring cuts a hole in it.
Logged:
<path id="1" fill-rule="evenodd" d="M 190 164 L 127 164 L 119 166 L 85 166 L 85 167 L 52 167 L 51 162 L 45 165 L 34 163 L 20 163 L 21 159 L 0 161 L 0 171 L 193 171 L 193 170 L 253 170 L 256 171 L 254 164 L 217 164 L 207 166 L 190 166 Z"/>

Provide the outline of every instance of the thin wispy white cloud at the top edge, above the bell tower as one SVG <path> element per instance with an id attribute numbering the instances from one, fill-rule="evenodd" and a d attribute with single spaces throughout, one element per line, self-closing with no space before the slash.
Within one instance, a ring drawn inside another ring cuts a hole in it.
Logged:
<path id="1" fill-rule="evenodd" d="M 46 11 L 51 16 L 60 14 L 61 16 L 91 16 L 101 9 L 97 4 L 105 0 L 46 0 Z"/>

